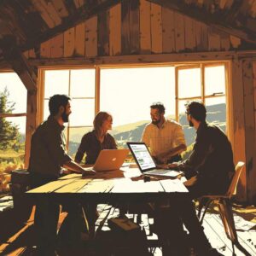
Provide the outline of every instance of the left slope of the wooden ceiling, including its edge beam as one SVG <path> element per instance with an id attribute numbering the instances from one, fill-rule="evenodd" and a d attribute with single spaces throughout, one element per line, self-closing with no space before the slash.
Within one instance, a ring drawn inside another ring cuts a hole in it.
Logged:
<path id="1" fill-rule="evenodd" d="M 120 0 L 2 0 L 0 48 L 16 44 L 21 51 L 106 11 Z M 14 41 L 10 43 L 10 41 Z M 1 52 L 0 52 L 1 54 Z"/>

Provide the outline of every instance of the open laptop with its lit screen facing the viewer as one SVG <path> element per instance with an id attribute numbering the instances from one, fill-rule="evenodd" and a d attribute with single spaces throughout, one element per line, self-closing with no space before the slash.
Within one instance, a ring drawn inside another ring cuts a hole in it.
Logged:
<path id="1" fill-rule="evenodd" d="M 145 143 L 127 143 L 127 145 L 143 174 L 173 178 L 180 175 L 181 172 L 174 170 L 158 169 Z"/>

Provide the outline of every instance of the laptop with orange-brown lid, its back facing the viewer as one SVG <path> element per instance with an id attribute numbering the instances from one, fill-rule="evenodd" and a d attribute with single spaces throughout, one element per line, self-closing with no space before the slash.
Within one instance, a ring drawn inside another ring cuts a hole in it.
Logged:
<path id="1" fill-rule="evenodd" d="M 113 171 L 119 170 L 125 161 L 125 157 L 129 153 L 129 149 L 103 149 L 96 159 L 96 163 L 92 167 L 84 168 L 87 171 Z"/>

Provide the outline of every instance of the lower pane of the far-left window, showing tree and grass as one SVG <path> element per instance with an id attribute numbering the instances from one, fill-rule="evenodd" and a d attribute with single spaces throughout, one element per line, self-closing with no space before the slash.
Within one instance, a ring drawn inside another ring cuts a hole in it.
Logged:
<path id="1" fill-rule="evenodd" d="M 26 117 L 0 118 L 0 173 L 24 168 Z"/>

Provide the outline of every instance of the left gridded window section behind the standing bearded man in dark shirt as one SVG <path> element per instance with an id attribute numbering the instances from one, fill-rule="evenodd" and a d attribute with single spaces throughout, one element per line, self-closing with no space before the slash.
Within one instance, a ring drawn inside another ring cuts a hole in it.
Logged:
<path id="1" fill-rule="evenodd" d="M 95 116 L 94 68 L 46 70 L 44 72 L 44 120 L 49 116 L 49 97 L 66 94 L 72 97 L 72 114 L 67 124 L 68 153 L 74 155 L 83 134 L 91 130 Z"/>

